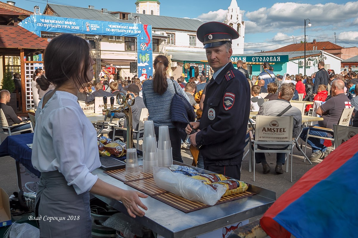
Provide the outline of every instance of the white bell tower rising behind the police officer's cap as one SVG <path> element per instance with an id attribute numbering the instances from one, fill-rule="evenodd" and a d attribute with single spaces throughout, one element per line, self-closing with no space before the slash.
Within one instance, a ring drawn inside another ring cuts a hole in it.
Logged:
<path id="1" fill-rule="evenodd" d="M 231 26 L 240 35 L 238 39 L 232 40 L 233 55 L 243 54 L 245 39 L 245 22 L 242 21 L 240 7 L 237 6 L 236 0 L 231 0 L 231 4 L 228 8 L 224 23 Z"/>

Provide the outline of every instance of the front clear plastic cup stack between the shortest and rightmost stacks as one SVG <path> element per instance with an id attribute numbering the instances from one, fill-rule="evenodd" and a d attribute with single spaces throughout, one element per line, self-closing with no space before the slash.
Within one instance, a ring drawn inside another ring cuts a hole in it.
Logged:
<path id="1" fill-rule="evenodd" d="M 153 167 L 158 166 L 155 137 L 147 137 L 145 140 L 145 154 L 143 157 L 143 171 L 153 173 Z"/>

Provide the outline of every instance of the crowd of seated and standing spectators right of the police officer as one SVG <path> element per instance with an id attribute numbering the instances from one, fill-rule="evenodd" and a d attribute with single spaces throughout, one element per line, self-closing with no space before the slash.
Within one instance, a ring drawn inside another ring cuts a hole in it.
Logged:
<path id="1" fill-rule="evenodd" d="M 237 64 L 239 70 L 241 64 L 241 62 Z M 258 76 L 252 76 L 250 80 L 251 111 L 258 111 L 258 115 L 278 114 L 280 110 L 285 109 L 283 104 L 289 105 L 289 101 L 299 100 L 299 94 L 301 94 L 301 100 L 314 102 L 315 105 L 307 105 L 304 114 L 323 117 L 324 120 L 318 121 L 315 126 L 333 129 L 333 124 L 338 124 L 344 108 L 352 108 L 358 105 L 358 97 L 355 97 L 358 93 L 358 75 L 350 69 L 348 71 L 344 70 L 340 74 L 335 74 L 333 70 L 325 70 L 324 66 L 323 61 L 318 62 L 318 71 L 311 76 L 290 75 L 288 73 L 282 76 L 275 75 L 274 69 L 269 63 L 265 62 L 263 71 Z M 243 72 L 243 70 L 240 71 Z M 246 75 L 245 72 L 243 74 Z M 282 101 L 286 102 L 283 103 Z M 283 103 L 283 106 L 280 106 L 280 103 Z M 269 113 L 267 108 L 271 108 Z M 285 112 L 285 115 L 293 114 L 294 120 L 300 121 L 301 112 L 296 113 L 292 110 Z M 304 141 L 306 140 L 307 132 L 308 128 L 304 128 L 300 135 L 300 138 Z M 309 134 L 333 138 L 333 133 L 325 132 L 319 128 L 310 128 Z M 295 131 L 294 135 L 297 136 Z M 320 138 L 309 137 L 308 143 L 312 147 L 311 161 L 321 161 L 332 150 L 332 147 L 328 145 L 329 143 Z M 282 166 L 281 156 L 277 155 L 277 166 Z M 270 167 L 263 158 L 265 158 L 264 155 L 259 155 L 256 162 L 261 162 L 263 172 L 268 173 Z M 279 167 L 275 171 L 281 173 L 281 169 Z"/>

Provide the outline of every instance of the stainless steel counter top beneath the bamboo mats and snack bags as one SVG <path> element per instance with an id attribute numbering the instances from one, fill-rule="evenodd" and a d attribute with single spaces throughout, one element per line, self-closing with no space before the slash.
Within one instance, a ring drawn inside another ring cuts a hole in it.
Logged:
<path id="1" fill-rule="evenodd" d="M 187 164 L 180 165 L 188 166 Z M 209 171 L 195 169 L 201 173 L 209 173 Z M 119 188 L 135 190 L 118 179 L 103 173 L 101 168 L 96 169 L 92 173 L 97 174 L 103 181 Z M 189 213 L 179 211 L 151 197 L 141 198 L 141 201 L 148 207 L 148 211 L 145 212 L 144 217 L 136 217 L 135 220 L 165 238 L 191 238 L 199 236 L 249 218 L 260 216 L 276 200 L 276 193 L 265 188 L 250 186 L 248 191 L 257 194 Z M 97 195 L 96 197 L 118 211 L 127 214 L 126 208 L 121 202 Z"/>

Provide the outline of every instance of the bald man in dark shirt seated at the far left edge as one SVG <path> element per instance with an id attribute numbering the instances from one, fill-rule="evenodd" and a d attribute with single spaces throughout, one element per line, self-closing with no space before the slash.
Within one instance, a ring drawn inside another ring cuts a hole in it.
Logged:
<path id="1" fill-rule="evenodd" d="M 21 122 L 21 117 L 16 116 L 14 109 L 8 105 L 10 102 L 10 92 L 8 90 L 0 91 L 0 108 L 3 110 L 5 114 L 6 121 L 8 121 L 8 125 L 12 126 L 14 124 L 18 124 Z M 30 124 L 19 125 L 14 128 L 11 128 L 11 132 L 21 131 L 25 129 L 30 129 Z"/>

